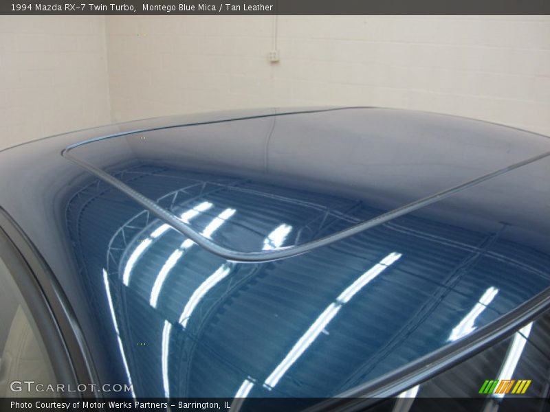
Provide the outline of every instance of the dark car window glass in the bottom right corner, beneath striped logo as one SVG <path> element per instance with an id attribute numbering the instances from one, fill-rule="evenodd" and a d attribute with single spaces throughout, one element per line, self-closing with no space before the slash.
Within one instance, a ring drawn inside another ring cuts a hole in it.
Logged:
<path id="1" fill-rule="evenodd" d="M 431 411 L 446 402 L 453 410 L 489 412 L 516 410 L 522 405 L 542 411 L 550 387 L 549 334 L 550 312 L 546 312 L 504 341 L 374 409 Z M 525 403 L 526 398 L 530 403 Z"/>

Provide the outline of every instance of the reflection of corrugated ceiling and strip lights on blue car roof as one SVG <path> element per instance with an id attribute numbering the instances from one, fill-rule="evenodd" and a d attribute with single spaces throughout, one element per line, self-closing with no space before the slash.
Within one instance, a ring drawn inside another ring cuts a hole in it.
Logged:
<path id="1" fill-rule="evenodd" d="M 236 249 L 285 247 L 383 211 L 199 170 L 137 164 L 117 176 Z M 98 322 L 119 343 L 109 356 L 136 396 L 334 396 L 460 341 L 550 285 L 541 270 L 549 256 L 514 243 L 491 216 L 490 225 L 434 216 L 245 264 L 212 255 L 98 181 L 67 206 Z"/>

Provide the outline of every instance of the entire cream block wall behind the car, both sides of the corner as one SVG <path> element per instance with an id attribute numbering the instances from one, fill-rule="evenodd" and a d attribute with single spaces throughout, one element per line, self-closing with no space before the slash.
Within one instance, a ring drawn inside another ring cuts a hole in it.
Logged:
<path id="1" fill-rule="evenodd" d="M 0 16 L 0 148 L 111 120 L 311 105 L 550 135 L 550 16 Z"/>

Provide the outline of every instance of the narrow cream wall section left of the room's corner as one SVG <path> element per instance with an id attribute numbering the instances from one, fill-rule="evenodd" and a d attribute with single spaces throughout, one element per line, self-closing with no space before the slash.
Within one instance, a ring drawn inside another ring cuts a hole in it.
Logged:
<path id="1" fill-rule="evenodd" d="M 111 122 L 102 16 L 0 16 L 0 149 Z"/>

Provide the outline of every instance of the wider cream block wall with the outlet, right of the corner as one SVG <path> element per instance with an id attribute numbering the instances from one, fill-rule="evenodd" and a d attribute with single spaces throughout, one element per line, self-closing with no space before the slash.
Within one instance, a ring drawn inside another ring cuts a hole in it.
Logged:
<path id="1" fill-rule="evenodd" d="M 113 117 L 254 106 L 451 113 L 550 135 L 550 16 L 108 16 Z"/>

